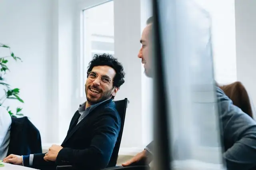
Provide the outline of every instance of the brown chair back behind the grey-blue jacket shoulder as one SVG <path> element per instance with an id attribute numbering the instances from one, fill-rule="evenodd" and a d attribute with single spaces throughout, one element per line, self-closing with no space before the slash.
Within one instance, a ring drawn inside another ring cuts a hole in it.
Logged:
<path id="1" fill-rule="evenodd" d="M 219 87 L 233 101 L 234 105 L 254 119 L 254 105 L 241 82 L 236 81 L 229 85 L 219 85 Z"/>

